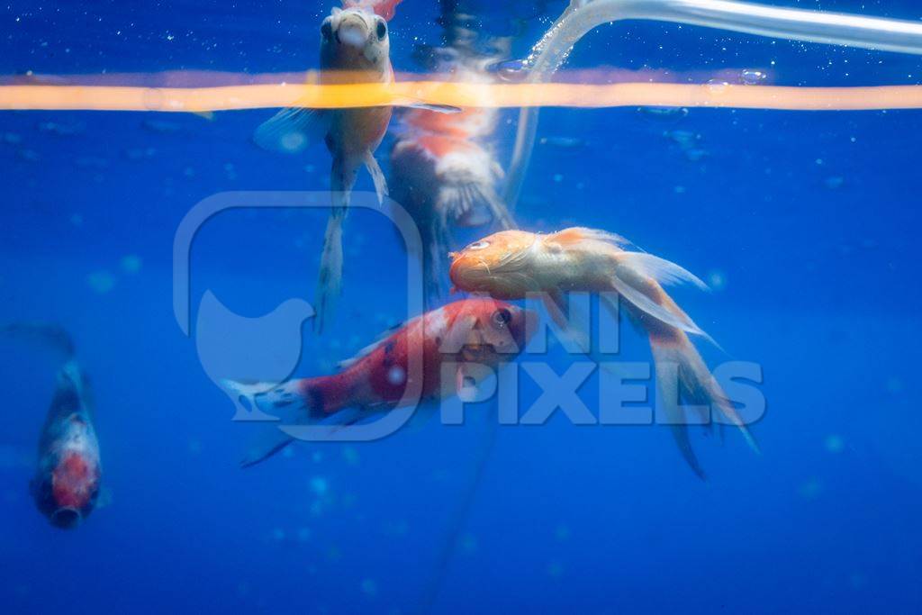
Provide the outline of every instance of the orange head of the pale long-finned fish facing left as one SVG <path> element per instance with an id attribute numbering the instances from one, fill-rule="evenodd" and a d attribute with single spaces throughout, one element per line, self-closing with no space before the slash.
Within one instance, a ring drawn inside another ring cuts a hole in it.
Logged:
<path id="1" fill-rule="evenodd" d="M 541 290 L 532 260 L 538 235 L 500 231 L 450 254 L 449 277 L 457 290 L 487 292 L 496 299 L 523 299 Z"/>

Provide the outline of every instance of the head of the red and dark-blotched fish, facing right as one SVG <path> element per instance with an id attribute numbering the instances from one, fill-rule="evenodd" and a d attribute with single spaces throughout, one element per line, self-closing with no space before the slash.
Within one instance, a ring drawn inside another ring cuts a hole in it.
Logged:
<path id="1" fill-rule="evenodd" d="M 495 364 L 525 349 L 538 328 L 538 316 L 512 303 L 489 297 L 455 302 L 448 337 L 454 337 L 467 361 Z"/>

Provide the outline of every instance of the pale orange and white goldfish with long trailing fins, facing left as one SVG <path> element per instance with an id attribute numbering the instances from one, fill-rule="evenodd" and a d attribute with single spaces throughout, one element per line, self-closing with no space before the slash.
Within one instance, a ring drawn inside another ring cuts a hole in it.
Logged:
<path id="1" fill-rule="evenodd" d="M 567 292 L 602 293 L 602 302 L 614 313 L 620 298 L 632 322 L 649 338 L 660 403 L 680 453 L 703 479 L 703 468 L 681 420 L 680 400 L 717 408 L 739 427 L 754 450 L 758 446 L 689 338 L 689 334 L 706 334 L 662 285 L 689 282 L 707 287 L 674 263 L 626 250 L 629 245 L 619 235 L 579 227 L 547 235 L 501 231 L 451 254 L 449 276 L 456 290 L 485 292 L 500 300 L 540 293 L 550 316 L 561 325 L 566 325 Z M 663 377 L 668 365 L 678 366 L 678 378 Z"/>

